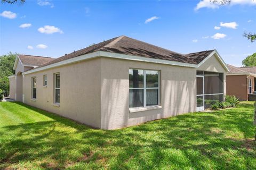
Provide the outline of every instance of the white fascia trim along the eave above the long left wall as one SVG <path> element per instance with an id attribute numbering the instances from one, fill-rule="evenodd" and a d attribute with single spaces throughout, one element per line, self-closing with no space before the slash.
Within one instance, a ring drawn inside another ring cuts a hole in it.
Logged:
<path id="1" fill-rule="evenodd" d="M 98 56 L 100 56 L 100 52 L 93 52 L 93 53 L 89 53 L 89 54 L 84 54 L 84 55 L 81 55 L 81 56 L 78 56 L 78 57 L 70 58 L 70 59 L 65 60 L 65 61 L 61 61 L 61 62 L 58 62 L 58 63 L 53 63 L 53 64 L 46 65 L 46 66 L 43 66 L 43 67 L 39 67 L 39 68 L 34 69 L 34 70 L 26 71 L 26 72 L 23 72 L 22 74 L 26 75 L 26 74 L 46 70 L 46 69 L 51 69 L 53 67 L 58 67 L 58 66 L 61 66 L 61 65 L 76 63 L 76 62 L 79 62 L 79 61 L 82 61 L 82 60 L 87 60 L 89 58 L 94 58 L 94 57 L 98 57 Z"/>

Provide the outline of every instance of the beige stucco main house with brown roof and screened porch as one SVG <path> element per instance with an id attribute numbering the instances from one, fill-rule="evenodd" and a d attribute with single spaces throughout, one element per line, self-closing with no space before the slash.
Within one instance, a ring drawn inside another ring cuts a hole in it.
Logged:
<path id="1" fill-rule="evenodd" d="M 24 71 L 23 103 L 117 129 L 222 101 L 228 71 L 216 50 L 183 55 L 121 36 Z"/>

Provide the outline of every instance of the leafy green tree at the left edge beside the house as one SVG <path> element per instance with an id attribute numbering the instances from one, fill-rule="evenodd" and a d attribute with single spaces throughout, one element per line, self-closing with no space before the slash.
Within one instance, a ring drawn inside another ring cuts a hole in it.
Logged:
<path id="1" fill-rule="evenodd" d="M 4 96 L 9 95 L 9 79 L 8 76 L 15 74 L 13 65 L 17 54 L 11 52 L 0 56 L 0 89 L 4 91 Z"/>

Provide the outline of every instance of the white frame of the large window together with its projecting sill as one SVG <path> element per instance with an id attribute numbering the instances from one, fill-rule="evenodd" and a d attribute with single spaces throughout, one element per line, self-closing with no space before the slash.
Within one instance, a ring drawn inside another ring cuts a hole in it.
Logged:
<path id="1" fill-rule="evenodd" d="M 129 70 L 130 69 L 131 70 L 143 70 L 143 88 L 130 88 L 129 87 L 129 91 L 133 90 L 133 89 L 142 89 L 143 90 L 143 106 L 142 107 L 129 107 L 130 113 L 162 108 L 162 106 L 157 107 L 157 106 L 160 106 L 160 86 L 161 86 L 161 84 L 160 84 L 160 71 L 159 70 L 146 70 L 146 69 L 129 68 Z M 157 71 L 158 72 L 158 87 L 148 87 L 148 88 L 146 87 L 146 85 L 147 85 L 146 84 L 146 75 L 147 75 L 146 71 Z M 130 86 L 130 84 L 129 84 L 129 86 Z M 147 106 L 147 89 L 158 89 L 158 104 L 157 105 Z"/>

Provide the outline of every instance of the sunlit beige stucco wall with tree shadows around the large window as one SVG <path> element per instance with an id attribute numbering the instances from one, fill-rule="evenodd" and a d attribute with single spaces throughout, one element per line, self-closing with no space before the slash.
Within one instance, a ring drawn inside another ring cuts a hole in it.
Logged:
<path id="1" fill-rule="evenodd" d="M 161 72 L 161 109 L 129 112 L 129 68 Z M 101 58 L 102 129 L 117 129 L 195 111 L 195 68 Z"/>

